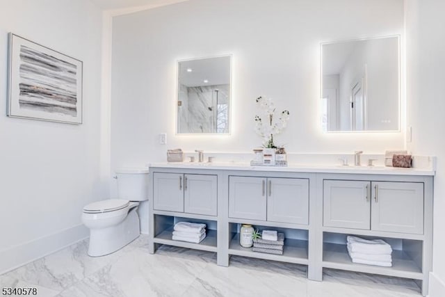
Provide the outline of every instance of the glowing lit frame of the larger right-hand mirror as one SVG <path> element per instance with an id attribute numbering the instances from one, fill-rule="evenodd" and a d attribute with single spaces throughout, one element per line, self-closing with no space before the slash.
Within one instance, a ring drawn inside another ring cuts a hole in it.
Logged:
<path id="1" fill-rule="evenodd" d="M 322 122 L 322 111 L 321 111 L 321 100 L 323 99 L 323 45 L 331 45 L 333 43 L 342 43 L 342 42 L 353 42 L 353 41 L 364 41 L 364 40 L 375 40 L 375 39 L 382 39 L 382 38 L 397 38 L 397 51 L 398 51 L 398 129 L 396 130 L 324 130 L 323 129 L 323 122 Z M 329 42 L 320 42 L 320 94 L 319 94 L 319 102 L 318 106 L 320 108 L 319 116 L 318 116 L 318 125 L 321 126 L 321 131 L 323 133 L 396 133 L 402 131 L 402 52 L 401 52 L 401 35 L 400 34 L 394 34 L 394 35 L 381 35 L 381 36 L 373 36 L 373 37 L 364 37 L 364 38 L 351 38 L 351 39 L 343 39 L 343 40 L 332 40 Z"/>

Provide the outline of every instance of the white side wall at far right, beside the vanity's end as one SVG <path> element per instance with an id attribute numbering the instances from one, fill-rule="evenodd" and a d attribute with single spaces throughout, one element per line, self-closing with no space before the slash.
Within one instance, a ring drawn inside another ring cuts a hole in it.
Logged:
<path id="1" fill-rule="evenodd" d="M 430 297 L 439 297 L 445 296 L 445 1 L 405 2 L 408 148 L 437 156 Z"/>

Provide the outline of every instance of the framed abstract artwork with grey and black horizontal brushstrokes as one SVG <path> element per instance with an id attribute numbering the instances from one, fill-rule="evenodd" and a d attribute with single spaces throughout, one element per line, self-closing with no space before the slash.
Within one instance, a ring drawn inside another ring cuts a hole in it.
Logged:
<path id="1" fill-rule="evenodd" d="M 9 33 L 8 62 L 8 116 L 82 123 L 82 61 Z"/>

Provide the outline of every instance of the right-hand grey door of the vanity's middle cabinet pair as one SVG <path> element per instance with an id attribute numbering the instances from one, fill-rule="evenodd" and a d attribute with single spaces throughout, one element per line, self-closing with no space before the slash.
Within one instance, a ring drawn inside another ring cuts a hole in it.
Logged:
<path id="1" fill-rule="evenodd" d="M 309 179 L 268 178 L 267 220 L 309 224 Z"/>

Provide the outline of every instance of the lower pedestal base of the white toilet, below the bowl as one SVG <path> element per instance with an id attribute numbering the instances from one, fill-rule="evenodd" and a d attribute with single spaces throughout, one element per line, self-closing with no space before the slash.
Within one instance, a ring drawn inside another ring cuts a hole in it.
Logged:
<path id="1" fill-rule="evenodd" d="M 88 255 L 99 257 L 120 250 L 140 235 L 139 216 L 133 207 L 118 225 L 104 229 L 90 229 Z"/>

